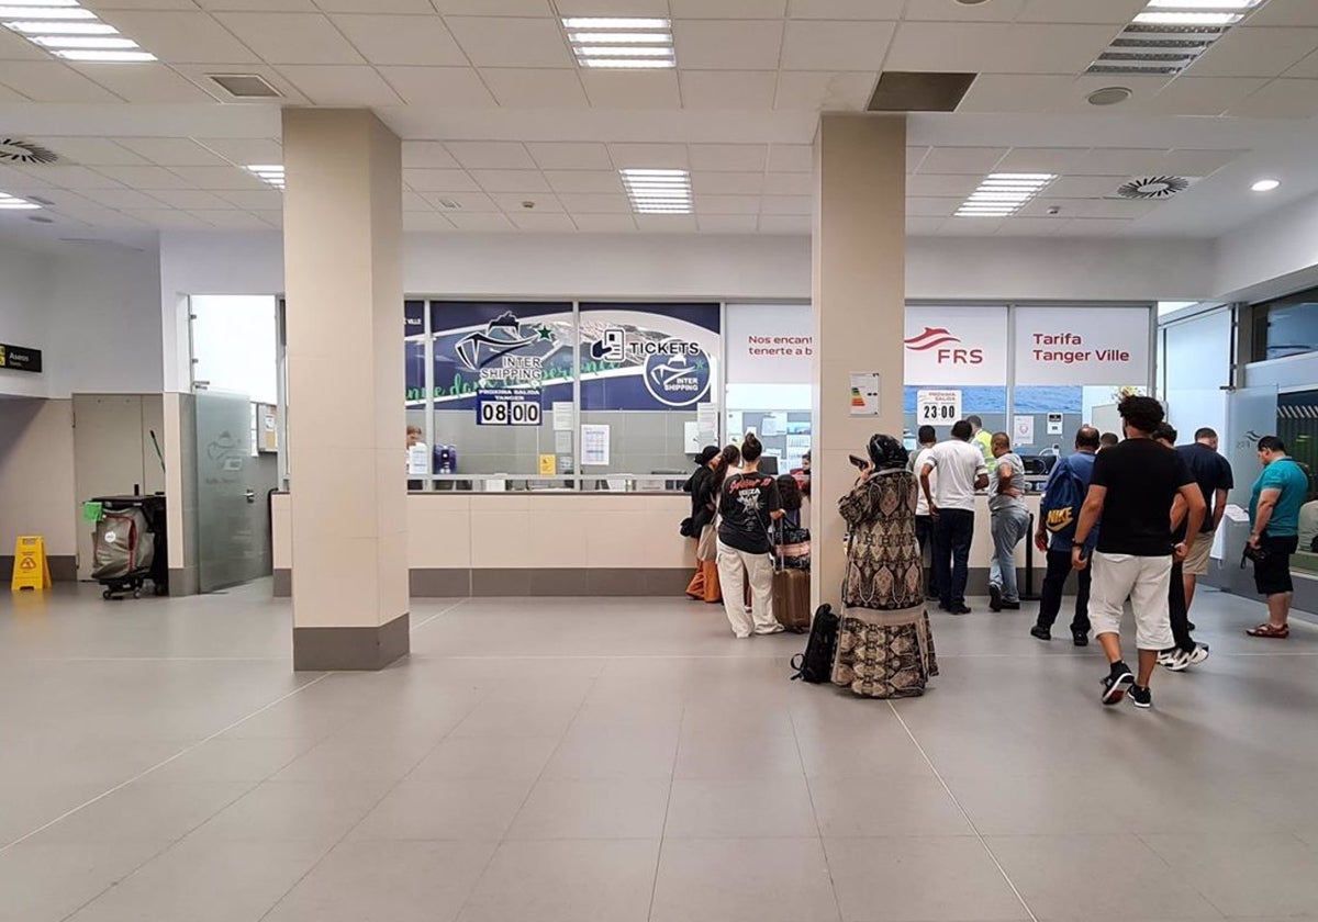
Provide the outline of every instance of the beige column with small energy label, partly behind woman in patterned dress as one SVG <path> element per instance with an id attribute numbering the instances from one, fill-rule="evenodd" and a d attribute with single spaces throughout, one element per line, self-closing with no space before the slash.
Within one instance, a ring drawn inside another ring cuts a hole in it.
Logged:
<path id="1" fill-rule="evenodd" d="M 905 116 L 825 115 L 815 140 L 815 605 L 841 601 L 849 454 L 902 437 L 905 315 Z M 851 415 L 851 373 L 882 374 L 878 416 Z"/>

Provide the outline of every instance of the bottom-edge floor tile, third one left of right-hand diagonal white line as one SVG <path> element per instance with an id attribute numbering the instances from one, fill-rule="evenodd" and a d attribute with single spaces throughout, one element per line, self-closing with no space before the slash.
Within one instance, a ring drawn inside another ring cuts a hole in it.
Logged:
<path id="1" fill-rule="evenodd" d="M 461 922 L 645 922 L 658 840 L 505 842 Z"/>

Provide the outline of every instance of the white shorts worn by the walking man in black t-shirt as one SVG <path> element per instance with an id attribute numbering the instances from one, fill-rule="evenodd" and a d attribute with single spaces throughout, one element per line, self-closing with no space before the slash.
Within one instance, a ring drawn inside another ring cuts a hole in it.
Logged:
<path id="1" fill-rule="evenodd" d="M 1094 578 L 1089 595 L 1089 619 L 1094 636 L 1122 632 L 1122 611 L 1131 599 L 1135 611 L 1135 645 L 1140 649 L 1174 647 L 1168 589 L 1172 583 L 1172 557 L 1135 557 L 1124 553 L 1095 553 Z"/>

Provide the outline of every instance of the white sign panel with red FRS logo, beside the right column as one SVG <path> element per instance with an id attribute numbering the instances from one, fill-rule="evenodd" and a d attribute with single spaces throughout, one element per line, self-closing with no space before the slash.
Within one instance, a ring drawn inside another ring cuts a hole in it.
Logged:
<path id="1" fill-rule="evenodd" d="M 907 308 L 907 385 L 1000 387 L 1006 381 L 1006 307 Z"/>

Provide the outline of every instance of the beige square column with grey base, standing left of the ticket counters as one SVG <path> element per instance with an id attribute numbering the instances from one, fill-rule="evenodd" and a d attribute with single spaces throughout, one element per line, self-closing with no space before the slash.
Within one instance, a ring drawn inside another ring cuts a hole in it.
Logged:
<path id="1" fill-rule="evenodd" d="M 293 660 L 407 653 L 402 148 L 365 109 L 285 109 Z"/>

